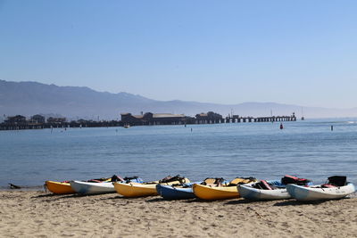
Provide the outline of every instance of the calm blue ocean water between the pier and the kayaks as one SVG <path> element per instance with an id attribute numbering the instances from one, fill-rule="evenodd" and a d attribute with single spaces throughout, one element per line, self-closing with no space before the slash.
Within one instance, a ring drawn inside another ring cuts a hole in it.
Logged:
<path id="1" fill-rule="evenodd" d="M 113 174 L 148 181 L 289 174 L 315 184 L 346 175 L 357 184 L 357 119 L 284 122 L 282 130 L 267 122 L 0 131 L 0 188 Z"/>

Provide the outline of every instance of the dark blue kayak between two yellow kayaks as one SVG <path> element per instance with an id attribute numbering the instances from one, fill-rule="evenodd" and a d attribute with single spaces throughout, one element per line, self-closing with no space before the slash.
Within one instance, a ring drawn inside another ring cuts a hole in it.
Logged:
<path id="1" fill-rule="evenodd" d="M 159 193 L 163 199 L 166 200 L 179 200 L 179 199 L 193 199 L 195 198 L 195 193 L 192 189 L 192 185 L 199 184 L 187 183 L 184 185 L 156 185 L 156 191 Z"/>

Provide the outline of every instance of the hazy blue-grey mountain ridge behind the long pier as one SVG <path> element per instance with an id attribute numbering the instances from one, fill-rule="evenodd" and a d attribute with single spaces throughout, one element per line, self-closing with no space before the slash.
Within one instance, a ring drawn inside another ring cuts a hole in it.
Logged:
<path id="1" fill-rule="evenodd" d="M 140 111 L 184 113 L 215 111 L 227 116 L 231 111 L 242 116 L 290 115 L 301 117 L 301 106 L 279 103 L 240 103 L 223 105 L 186 101 L 156 101 L 140 95 L 96 92 L 82 86 L 55 86 L 37 82 L 9 82 L 0 80 L 1 115 L 57 113 L 75 119 L 120 119 L 120 112 Z M 350 110 L 303 107 L 306 118 L 357 117 L 357 108 Z"/>

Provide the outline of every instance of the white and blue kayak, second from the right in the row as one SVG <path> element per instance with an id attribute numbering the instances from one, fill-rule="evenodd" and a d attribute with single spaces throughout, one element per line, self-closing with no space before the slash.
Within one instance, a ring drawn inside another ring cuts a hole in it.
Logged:
<path id="1" fill-rule="evenodd" d="M 267 182 L 270 183 L 270 181 Z M 277 187 L 272 190 L 266 190 L 266 189 L 254 188 L 253 187 L 254 184 L 237 185 L 240 196 L 242 198 L 253 200 L 253 201 L 282 200 L 282 199 L 291 198 L 290 194 L 287 193 L 286 188 Z M 277 182 L 275 184 L 277 184 Z"/>

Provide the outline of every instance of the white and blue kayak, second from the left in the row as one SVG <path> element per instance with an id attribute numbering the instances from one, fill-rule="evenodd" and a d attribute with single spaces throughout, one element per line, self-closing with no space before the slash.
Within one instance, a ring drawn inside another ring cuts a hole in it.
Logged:
<path id="1" fill-rule="evenodd" d="M 112 182 L 91 183 L 82 181 L 70 181 L 71 188 L 79 194 L 103 194 L 103 193 L 116 193 Z"/>

